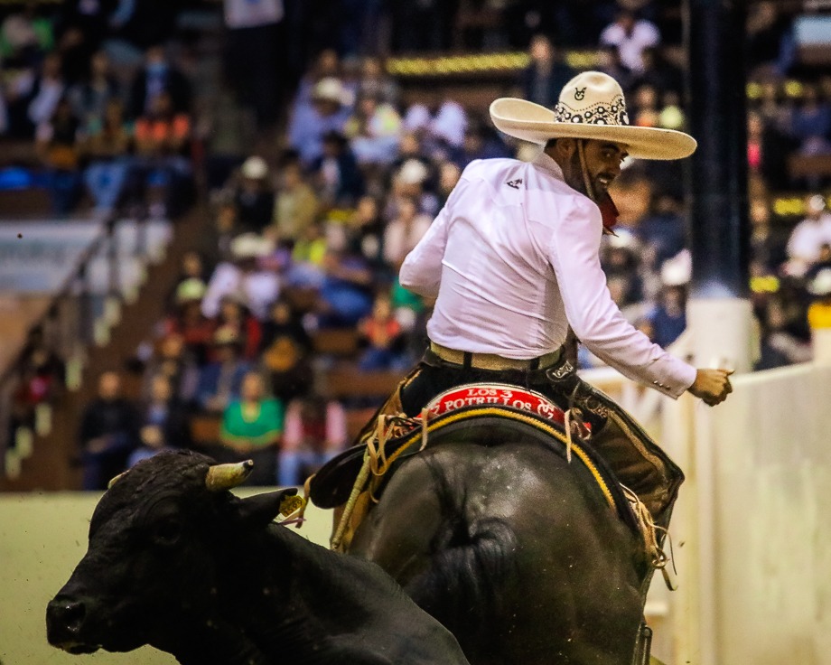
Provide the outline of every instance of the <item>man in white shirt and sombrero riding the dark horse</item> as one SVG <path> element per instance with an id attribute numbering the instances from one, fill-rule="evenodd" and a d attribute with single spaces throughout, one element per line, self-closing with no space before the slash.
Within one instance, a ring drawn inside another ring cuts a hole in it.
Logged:
<path id="1" fill-rule="evenodd" d="M 490 117 L 545 148 L 530 163 L 469 164 L 406 257 L 402 286 L 435 298 L 431 343 L 380 412 L 415 416 L 434 396 L 476 381 L 535 389 L 582 414 L 595 449 L 666 525 L 683 474 L 621 407 L 576 376 L 564 344 L 571 328 L 603 361 L 673 398 L 688 390 L 713 406 L 732 391 L 729 370 L 696 370 L 626 321 L 598 256 L 613 211 L 607 189 L 623 158 L 679 159 L 696 141 L 630 126 L 620 86 L 596 71 L 569 81 L 554 111 L 500 98 Z"/>

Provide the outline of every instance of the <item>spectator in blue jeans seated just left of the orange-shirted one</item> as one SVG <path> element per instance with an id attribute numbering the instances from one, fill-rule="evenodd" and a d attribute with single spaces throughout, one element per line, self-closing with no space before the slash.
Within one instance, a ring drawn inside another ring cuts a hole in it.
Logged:
<path id="1" fill-rule="evenodd" d="M 102 122 L 88 125 L 85 147 L 89 165 L 84 171 L 84 182 L 96 212 L 102 216 L 111 214 L 122 201 L 135 167 L 135 159 L 129 154 L 132 137 L 120 99 L 109 99 Z"/>

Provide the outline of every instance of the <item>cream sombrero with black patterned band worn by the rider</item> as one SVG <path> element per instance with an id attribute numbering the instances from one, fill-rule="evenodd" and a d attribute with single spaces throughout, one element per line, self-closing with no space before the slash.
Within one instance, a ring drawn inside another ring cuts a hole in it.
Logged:
<path id="1" fill-rule="evenodd" d="M 565 84 L 550 108 L 525 99 L 503 97 L 490 104 L 490 119 L 501 132 L 546 145 L 551 138 L 588 138 L 626 146 L 640 159 L 681 159 L 696 150 L 684 132 L 629 124 L 618 82 L 601 71 L 584 71 Z"/>

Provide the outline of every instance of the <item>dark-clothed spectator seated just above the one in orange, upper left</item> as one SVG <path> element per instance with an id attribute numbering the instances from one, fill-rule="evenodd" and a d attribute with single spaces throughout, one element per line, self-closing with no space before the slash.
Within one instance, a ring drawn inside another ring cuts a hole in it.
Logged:
<path id="1" fill-rule="evenodd" d="M 182 72 L 170 63 L 163 45 L 157 44 L 145 52 L 145 66 L 135 74 L 130 89 L 130 117 L 139 118 L 154 113 L 158 98 L 167 93 L 167 105 L 173 116 L 191 111 L 191 84 Z"/>

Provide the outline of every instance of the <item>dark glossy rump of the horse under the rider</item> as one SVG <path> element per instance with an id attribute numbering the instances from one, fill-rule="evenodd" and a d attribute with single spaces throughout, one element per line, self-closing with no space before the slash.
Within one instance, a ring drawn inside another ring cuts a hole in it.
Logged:
<path id="1" fill-rule="evenodd" d="M 648 660 L 653 569 L 639 533 L 587 465 L 553 440 L 510 436 L 465 426 L 406 459 L 350 554 L 387 570 L 473 665 Z"/>

